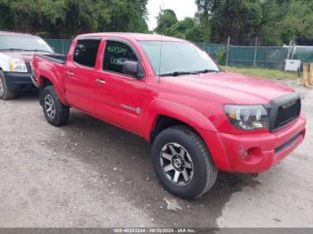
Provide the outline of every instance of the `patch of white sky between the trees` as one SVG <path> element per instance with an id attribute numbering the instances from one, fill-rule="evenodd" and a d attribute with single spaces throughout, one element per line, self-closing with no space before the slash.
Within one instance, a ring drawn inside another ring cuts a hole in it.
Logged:
<path id="1" fill-rule="evenodd" d="M 148 1 L 148 27 L 155 29 L 157 27 L 157 14 L 162 9 L 172 9 L 179 21 L 185 17 L 193 17 L 197 12 L 195 0 L 149 0 Z"/>

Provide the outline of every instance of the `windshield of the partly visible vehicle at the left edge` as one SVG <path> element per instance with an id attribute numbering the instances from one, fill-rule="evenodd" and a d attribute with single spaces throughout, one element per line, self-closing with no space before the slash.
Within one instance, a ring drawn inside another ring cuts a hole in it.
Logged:
<path id="1" fill-rule="evenodd" d="M 0 36 L 0 50 L 42 51 L 52 53 L 52 49 L 42 39 L 35 36 Z"/>

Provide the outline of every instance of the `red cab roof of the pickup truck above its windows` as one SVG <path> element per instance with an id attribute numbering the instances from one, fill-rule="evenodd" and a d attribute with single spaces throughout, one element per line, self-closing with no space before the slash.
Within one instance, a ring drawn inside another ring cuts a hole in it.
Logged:
<path id="1" fill-rule="evenodd" d="M 125 32 L 100 32 L 82 34 L 77 38 L 123 38 L 123 39 L 135 39 L 137 41 L 171 41 L 171 42 L 186 42 L 179 38 L 171 38 L 161 36 L 157 34 L 144 34 L 144 33 L 125 33 Z"/>

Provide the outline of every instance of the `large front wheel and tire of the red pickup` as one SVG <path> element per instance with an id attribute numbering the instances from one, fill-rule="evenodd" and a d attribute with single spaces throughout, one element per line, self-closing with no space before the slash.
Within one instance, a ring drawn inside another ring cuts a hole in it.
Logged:
<path id="1" fill-rule="evenodd" d="M 161 184 L 175 196 L 198 198 L 216 182 L 218 171 L 206 144 L 187 126 L 175 126 L 158 134 L 152 159 Z"/>

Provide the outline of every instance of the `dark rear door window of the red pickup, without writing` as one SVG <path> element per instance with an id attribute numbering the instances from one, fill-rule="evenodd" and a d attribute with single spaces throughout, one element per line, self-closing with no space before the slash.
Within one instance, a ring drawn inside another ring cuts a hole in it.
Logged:
<path id="1" fill-rule="evenodd" d="M 99 39 L 79 40 L 74 51 L 73 61 L 80 65 L 94 68 L 96 66 L 99 45 Z"/>

